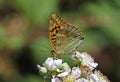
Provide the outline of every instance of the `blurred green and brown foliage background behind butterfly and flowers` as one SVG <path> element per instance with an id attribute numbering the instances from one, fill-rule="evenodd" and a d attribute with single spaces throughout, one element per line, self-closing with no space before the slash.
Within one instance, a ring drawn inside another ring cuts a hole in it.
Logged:
<path id="1" fill-rule="evenodd" d="M 36 64 L 51 56 L 52 13 L 80 27 L 85 39 L 78 50 L 120 82 L 120 0 L 0 0 L 0 82 L 43 82 Z"/>

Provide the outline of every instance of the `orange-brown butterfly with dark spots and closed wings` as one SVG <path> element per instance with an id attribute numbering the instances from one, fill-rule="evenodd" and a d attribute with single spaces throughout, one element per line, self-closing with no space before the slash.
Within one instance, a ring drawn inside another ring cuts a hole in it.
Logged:
<path id="1" fill-rule="evenodd" d="M 52 14 L 49 24 L 49 38 L 53 48 L 52 54 L 56 57 L 76 50 L 84 36 L 77 27 L 69 24 L 59 15 Z"/>

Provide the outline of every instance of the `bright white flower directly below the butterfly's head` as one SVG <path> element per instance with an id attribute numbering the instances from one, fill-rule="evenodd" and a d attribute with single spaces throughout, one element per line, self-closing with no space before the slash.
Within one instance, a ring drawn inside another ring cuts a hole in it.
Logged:
<path id="1" fill-rule="evenodd" d="M 48 68 L 48 70 L 55 70 L 57 69 L 60 65 L 62 64 L 62 60 L 61 59 L 53 59 L 53 58 L 48 58 L 45 62 L 44 62 L 44 66 L 46 68 Z"/>

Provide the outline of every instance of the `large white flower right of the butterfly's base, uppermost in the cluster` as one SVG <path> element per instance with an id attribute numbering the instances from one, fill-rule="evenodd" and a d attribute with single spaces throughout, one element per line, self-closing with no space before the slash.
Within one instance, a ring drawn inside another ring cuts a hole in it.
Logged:
<path id="1" fill-rule="evenodd" d="M 81 61 L 82 65 L 87 65 L 91 70 L 97 67 L 97 63 L 94 62 L 93 58 L 86 52 L 80 53 L 78 51 L 75 51 L 71 58 L 75 61 Z"/>

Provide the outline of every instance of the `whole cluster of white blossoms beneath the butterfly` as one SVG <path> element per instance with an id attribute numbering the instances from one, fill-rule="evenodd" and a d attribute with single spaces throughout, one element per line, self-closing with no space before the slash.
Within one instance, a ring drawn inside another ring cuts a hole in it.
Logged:
<path id="1" fill-rule="evenodd" d="M 88 53 L 75 51 L 70 58 L 74 60 L 75 67 L 70 67 L 62 59 L 49 57 L 43 67 L 37 65 L 40 74 L 44 78 L 51 78 L 51 82 L 110 82 L 100 71 L 98 66 Z"/>

